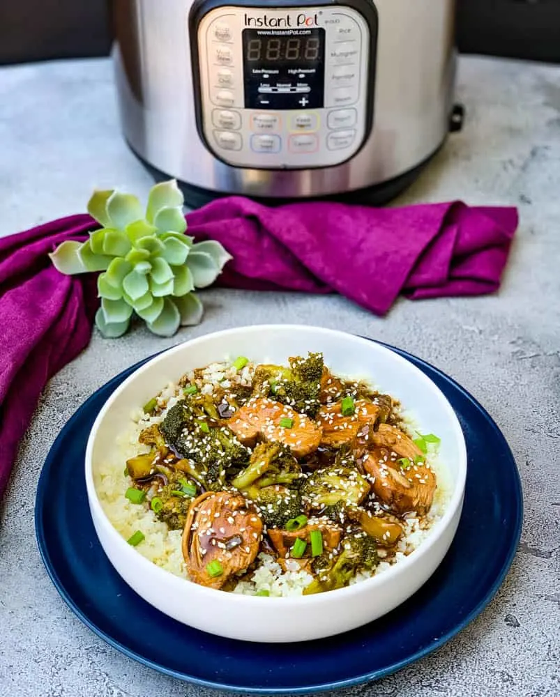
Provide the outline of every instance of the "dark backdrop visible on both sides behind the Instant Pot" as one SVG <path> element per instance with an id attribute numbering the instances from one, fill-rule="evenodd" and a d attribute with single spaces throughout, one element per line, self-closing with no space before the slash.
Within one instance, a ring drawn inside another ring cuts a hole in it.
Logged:
<path id="1" fill-rule="evenodd" d="M 110 43 L 109 0 L 0 0 L 0 64 L 105 56 Z M 457 43 L 560 63 L 560 0 L 457 0 Z"/>

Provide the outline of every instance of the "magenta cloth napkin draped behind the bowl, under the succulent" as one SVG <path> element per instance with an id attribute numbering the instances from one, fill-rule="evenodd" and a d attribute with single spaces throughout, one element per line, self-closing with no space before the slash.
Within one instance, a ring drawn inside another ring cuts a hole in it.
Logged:
<path id="1" fill-rule="evenodd" d="M 239 197 L 189 213 L 188 233 L 234 256 L 221 286 L 338 292 L 383 315 L 409 298 L 499 288 L 517 229 L 515 208 L 460 202 L 406 208 L 300 203 L 267 208 Z M 98 227 L 74 215 L 0 238 L 0 496 L 41 390 L 88 344 L 95 275 L 67 277 L 47 256 Z"/>

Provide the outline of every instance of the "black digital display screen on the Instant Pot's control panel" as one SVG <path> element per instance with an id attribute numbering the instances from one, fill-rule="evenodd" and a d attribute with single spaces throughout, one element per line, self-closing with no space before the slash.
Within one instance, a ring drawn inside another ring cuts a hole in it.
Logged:
<path id="1" fill-rule="evenodd" d="M 245 108 L 323 107 L 324 57 L 321 27 L 244 29 Z"/>

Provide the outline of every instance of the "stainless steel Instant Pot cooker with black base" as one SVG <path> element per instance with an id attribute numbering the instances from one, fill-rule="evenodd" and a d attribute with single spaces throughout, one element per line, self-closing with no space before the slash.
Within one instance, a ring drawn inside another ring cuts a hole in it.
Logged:
<path id="1" fill-rule="evenodd" d="M 124 135 L 188 205 L 381 204 L 460 111 L 454 0 L 115 0 Z"/>

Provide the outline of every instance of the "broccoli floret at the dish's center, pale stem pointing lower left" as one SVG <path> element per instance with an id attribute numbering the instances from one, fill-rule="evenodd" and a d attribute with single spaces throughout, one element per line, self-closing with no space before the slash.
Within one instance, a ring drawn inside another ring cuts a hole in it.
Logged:
<path id="1" fill-rule="evenodd" d="M 289 484 L 301 477 L 301 467 L 287 445 L 260 443 L 253 450 L 248 466 L 232 484 L 239 491 L 272 484 Z"/>

